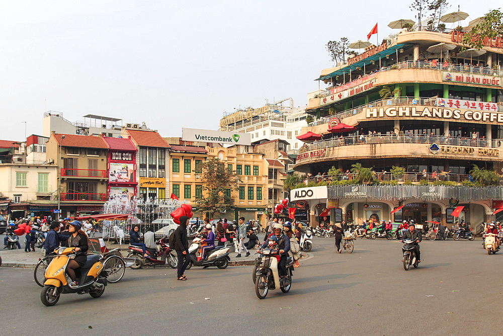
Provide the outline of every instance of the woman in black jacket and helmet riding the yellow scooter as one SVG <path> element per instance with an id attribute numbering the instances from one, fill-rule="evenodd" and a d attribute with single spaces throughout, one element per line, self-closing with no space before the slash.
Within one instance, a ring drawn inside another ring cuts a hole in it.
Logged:
<path id="1" fill-rule="evenodd" d="M 75 270 L 86 265 L 88 260 L 86 252 L 88 251 L 88 237 L 82 231 L 82 225 L 78 220 L 70 222 L 70 227 L 68 228 L 70 235 L 68 236 L 67 244 L 68 247 L 75 247 L 75 252 L 77 253 L 73 260 L 68 262 L 66 266 L 66 274 L 71 279 L 70 287 L 78 287 L 77 277 L 75 276 Z"/>

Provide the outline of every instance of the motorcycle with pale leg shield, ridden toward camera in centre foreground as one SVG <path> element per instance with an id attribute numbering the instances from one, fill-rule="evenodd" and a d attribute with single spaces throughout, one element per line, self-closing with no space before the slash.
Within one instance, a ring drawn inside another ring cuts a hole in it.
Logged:
<path id="1" fill-rule="evenodd" d="M 269 290 L 281 289 L 288 293 L 292 287 L 293 259 L 287 257 L 285 278 L 280 279 L 278 274 L 278 250 L 265 248 L 259 251 L 261 257 L 257 259 L 257 271 L 255 272 L 255 293 L 259 299 L 265 299 Z"/>

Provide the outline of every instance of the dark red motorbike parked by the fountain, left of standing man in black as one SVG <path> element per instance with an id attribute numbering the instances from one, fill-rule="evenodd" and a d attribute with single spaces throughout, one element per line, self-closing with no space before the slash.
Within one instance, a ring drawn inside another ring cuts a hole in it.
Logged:
<path id="1" fill-rule="evenodd" d="M 134 258 L 134 264 L 130 268 L 137 270 L 142 267 L 155 267 L 167 264 L 171 268 L 176 269 L 178 267 L 178 259 L 172 253 L 173 250 L 170 246 L 166 244 L 167 239 L 164 237 L 155 242 L 160 246 L 160 250 L 145 248 L 148 257 L 143 256 L 141 247 L 129 245 L 130 253 L 128 254 L 128 258 Z M 160 259 L 158 259 L 159 257 Z"/>

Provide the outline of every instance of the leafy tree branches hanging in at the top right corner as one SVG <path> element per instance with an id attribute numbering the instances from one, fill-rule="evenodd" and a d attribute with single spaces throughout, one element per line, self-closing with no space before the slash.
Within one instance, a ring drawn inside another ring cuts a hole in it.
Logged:
<path id="1" fill-rule="evenodd" d="M 499 8 L 489 11 L 481 22 L 463 34 L 463 44 L 480 50 L 487 41 L 496 37 L 503 38 L 503 13 Z"/>

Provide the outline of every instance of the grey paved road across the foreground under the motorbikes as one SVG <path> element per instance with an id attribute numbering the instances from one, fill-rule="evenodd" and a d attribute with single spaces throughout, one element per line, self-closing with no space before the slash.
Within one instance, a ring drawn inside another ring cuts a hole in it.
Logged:
<path id="1" fill-rule="evenodd" d="M 315 257 L 295 270 L 290 293 L 275 290 L 265 300 L 255 295 L 251 267 L 196 268 L 186 282 L 171 269 L 145 269 L 127 270 L 101 298 L 66 294 L 45 307 L 33 270 L 0 268 L 0 289 L 10 293 L 2 310 L 29 316 L 4 324 L 2 333 L 494 333 L 503 253 L 488 256 L 480 240 L 424 241 L 423 263 L 409 271 L 395 240 L 359 239 L 353 254 L 341 255 L 331 238 L 316 238 L 314 246 Z M 61 321 L 66 316 L 68 323 Z M 489 319 L 491 326 L 484 323 Z"/>

